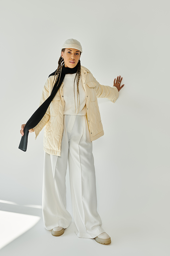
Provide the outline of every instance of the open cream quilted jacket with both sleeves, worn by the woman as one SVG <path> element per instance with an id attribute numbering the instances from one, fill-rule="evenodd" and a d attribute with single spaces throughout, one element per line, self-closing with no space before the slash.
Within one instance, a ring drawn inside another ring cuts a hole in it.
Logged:
<path id="1" fill-rule="evenodd" d="M 90 131 L 90 138 L 91 141 L 93 141 L 104 135 L 97 98 L 108 98 L 112 102 L 115 102 L 119 93 L 115 86 L 110 87 L 99 84 L 91 72 L 83 66 L 81 66 L 81 77 L 87 96 L 86 118 Z M 43 88 L 40 105 L 50 96 L 53 79 L 54 75 L 47 79 Z M 63 136 L 63 113 L 65 105 L 62 90 L 63 85 L 64 83 L 61 84 L 44 117 L 34 127 L 36 139 L 39 132 L 46 125 L 44 131 L 44 151 L 56 156 L 60 156 Z"/>

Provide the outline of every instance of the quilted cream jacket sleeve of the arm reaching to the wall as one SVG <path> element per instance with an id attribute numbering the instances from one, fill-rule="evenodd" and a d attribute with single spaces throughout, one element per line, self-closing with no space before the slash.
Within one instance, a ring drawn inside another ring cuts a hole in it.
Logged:
<path id="1" fill-rule="evenodd" d="M 93 76 L 93 81 L 96 83 L 96 96 L 97 98 L 107 98 L 112 102 L 115 102 L 119 97 L 119 92 L 116 86 L 101 85 Z"/>

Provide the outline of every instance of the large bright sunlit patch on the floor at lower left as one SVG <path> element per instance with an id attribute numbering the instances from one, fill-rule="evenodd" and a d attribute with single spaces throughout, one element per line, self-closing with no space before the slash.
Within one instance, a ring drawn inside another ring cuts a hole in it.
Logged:
<path id="1" fill-rule="evenodd" d="M 0 211 L 0 249 L 32 228 L 39 216 Z"/>

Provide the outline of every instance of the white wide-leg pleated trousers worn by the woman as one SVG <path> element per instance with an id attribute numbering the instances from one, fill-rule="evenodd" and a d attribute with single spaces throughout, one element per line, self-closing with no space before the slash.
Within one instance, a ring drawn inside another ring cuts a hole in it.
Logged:
<path id="1" fill-rule="evenodd" d="M 76 234 L 80 238 L 95 238 L 105 231 L 97 212 L 94 158 L 86 116 L 64 115 L 61 156 L 45 153 L 43 219 L 48 230 L 67 228 L 72 219 L 66 210 L 67 162 Z"/>

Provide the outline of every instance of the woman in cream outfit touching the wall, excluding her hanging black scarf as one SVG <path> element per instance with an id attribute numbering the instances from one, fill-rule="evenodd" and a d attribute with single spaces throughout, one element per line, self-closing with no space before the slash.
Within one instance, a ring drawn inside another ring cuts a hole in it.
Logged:
<path id="1" fill-rule="evenodd" d="M 82 46 L 68 39 L 62 46 L 57 70 L 49 75 L 40 105 L 50 96 L 55 83 L 63 82 L 46 114 L 30 132 L 36 137 L 44 131 L 43 219 L 53 236 L 61 236 L 71 222 L 66 210 L 65 176 L 69 162 L 71 200 L 76 233 L 80 238 L 95 238 L 109 244 L 97 212 L 96 178 L 92 141 L 103 136 L 97 97 L 115 102 L 122 78 L 114 86 L 100 85 L 91 72 L 80 64 Z M 62 76 L 65 72 L 65 76 Z M 64 78 L 63 78 L 64 77 Z M 24 125 L 20 133 L 23 136 Z"/>

